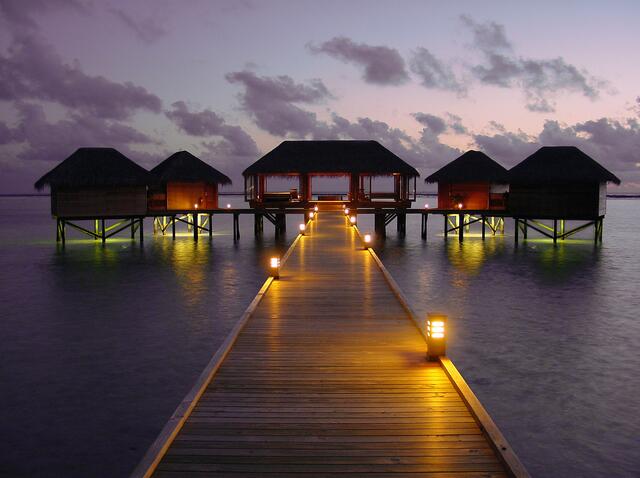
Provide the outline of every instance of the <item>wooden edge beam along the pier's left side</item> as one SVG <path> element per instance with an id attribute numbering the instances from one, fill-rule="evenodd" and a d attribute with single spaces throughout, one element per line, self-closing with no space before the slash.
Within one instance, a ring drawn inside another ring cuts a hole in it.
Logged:
<path id="1" fill-rule="evenodd" d="M 282 257 L 281 266 L 284 265 L 284 262 L 293 252 L 293 249 L 300 240 L 300 237 L 301 235 L 298 234 L 287 249 L 287 252 Z M 142 457 L 142 460 L 135 467 L 130 475 L 130 478 L 148 478 L 155 472 L 158 464 L 160 463 L 160 460 L 162 460 L 162 458 L 164 457 L 165 453 L 173 443 L 173 440 L 178 435 L 178 433 L 182 429 L 182 426 L 189 418 L 189 415 L 191 415 L 191 412 L 198 403 L 198 400 L 200 400 L 200 397 L 213 380 L 213 377 L 215 377 L 216 372 L 231 351 L 231 348 L 240 336 L 240 332 L 242 332 L 242 329 L 244 329 L 244 326 L 249 321 L 249 318 L 251 317 L 255 309 L 258 307 L 258 304 L 269 290 L 269 287 L 271 286 L 273 280 L 273 277 L 268 277 L 267 280 L 264 281 L 256 296 L 253 298 L 225 341 L 222 343 L 222 345 L 220 345 L 214 356 L 211 358 L 205 369 L 198 377 L 195 385 L 182 399 L 176 410 L 173 412 L 165 426 L 160 431 L 158 437 L 154 440 L 145 455 Z"/>

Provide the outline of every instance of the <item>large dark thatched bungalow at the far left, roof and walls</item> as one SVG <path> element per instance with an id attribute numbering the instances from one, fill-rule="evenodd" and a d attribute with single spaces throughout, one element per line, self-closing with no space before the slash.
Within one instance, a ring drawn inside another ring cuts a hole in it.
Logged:
<path id="1" fill-rule="evenodd" d="M 147 213 L 149 173 L 113 148 L 79 148 L 35 183 L 51 188 L 57 218 L 122 218 Z"/>

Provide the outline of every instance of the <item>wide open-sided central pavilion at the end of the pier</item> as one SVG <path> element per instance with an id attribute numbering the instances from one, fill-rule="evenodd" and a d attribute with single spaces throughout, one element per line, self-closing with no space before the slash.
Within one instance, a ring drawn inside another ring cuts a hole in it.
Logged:
<path id="1" fill-rule="evenodd" d="M 418 171 L 377 141 L 284 141 L 243 172 L 251 207 L 305 207 L 310 202 L 344 202 L 352 207 L 409 207 Z M 317 195 L 316 177 L 348 178 L 349 192 Z M 393 189 L 373 191 L 373 178 L 393 179 Z M 288 191 L 269 190 L 269 178 L 298 180 Z M 413 180 L 413 181 L 412 181 Z"/>

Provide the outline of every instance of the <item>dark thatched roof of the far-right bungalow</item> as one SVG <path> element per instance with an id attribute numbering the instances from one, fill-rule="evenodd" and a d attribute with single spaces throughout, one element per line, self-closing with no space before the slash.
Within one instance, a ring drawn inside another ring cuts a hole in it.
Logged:
<path id="1" fill-rule="evenodd" d="M 544 146 L 509 170 L 520 184 L 603 183 L 620 179 L 575 146 Z"/>

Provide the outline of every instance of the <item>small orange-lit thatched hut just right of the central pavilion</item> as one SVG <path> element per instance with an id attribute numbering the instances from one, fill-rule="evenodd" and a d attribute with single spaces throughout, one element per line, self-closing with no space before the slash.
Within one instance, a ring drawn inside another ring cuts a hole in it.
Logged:
<path id="1" fill-rule="evenodd" d="M 438 208 L 503 210 L 508 173 L 480 151 L 467 151 L 433 173 L 425 182 L 438 183 Z"/>

